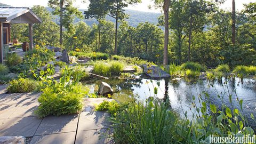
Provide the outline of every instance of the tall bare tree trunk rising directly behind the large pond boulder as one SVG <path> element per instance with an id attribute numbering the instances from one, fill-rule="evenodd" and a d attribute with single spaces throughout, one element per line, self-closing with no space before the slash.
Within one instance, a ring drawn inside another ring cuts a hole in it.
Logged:
<path id="1" fill-rule="evenodd" d="M 164 66 L 168 65 L 169 6 L 170 0 L 164 0 Z"/>

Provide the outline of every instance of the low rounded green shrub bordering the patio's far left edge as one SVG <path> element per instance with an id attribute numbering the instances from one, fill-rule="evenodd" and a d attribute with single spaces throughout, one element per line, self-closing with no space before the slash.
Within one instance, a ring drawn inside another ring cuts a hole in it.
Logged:
<path id="1" fill-rule="evenodd" d="M 38 83 L 29 78 L 13 79 L 7 86 L 8 93 L 24 93 L 38 90 Z"/>

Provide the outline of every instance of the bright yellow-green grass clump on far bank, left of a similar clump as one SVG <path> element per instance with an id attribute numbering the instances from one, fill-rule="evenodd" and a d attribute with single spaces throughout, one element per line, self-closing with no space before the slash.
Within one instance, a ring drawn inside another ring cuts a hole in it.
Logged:
<path id="1" fill-rule="evenodd" d="M 102 76 L 111 76 L 110 66 L 105 62 L 94 63 L 93 73 Z"/>

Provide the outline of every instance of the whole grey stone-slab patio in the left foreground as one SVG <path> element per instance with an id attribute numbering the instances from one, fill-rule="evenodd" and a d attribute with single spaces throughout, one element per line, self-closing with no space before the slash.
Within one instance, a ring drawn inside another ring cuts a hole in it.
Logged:
<path id="1" fill-rule="evenodd" d="M 100 134 L 109 128 L 109 114 L 93 110 L 94 104 L 108 99 L 84 99 L 84 111 L 80 114 L 38 118 L 34 111 L 39 106 L 40 94 L 0 94 L 0 136 L 31 137 L 30 143 L 109 142 Z"/>

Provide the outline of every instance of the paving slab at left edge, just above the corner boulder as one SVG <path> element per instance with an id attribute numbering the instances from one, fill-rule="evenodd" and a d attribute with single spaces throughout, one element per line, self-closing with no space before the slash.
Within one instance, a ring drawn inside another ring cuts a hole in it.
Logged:
<path id="1" fill-rule="evenodd" d="M 42 119 L 37 117 L 4 119 L 2 120 L 3 124 L 0 125 L 0 136 L 22 135 L 24 137 L 33 137 L 41 121 Z"/>

